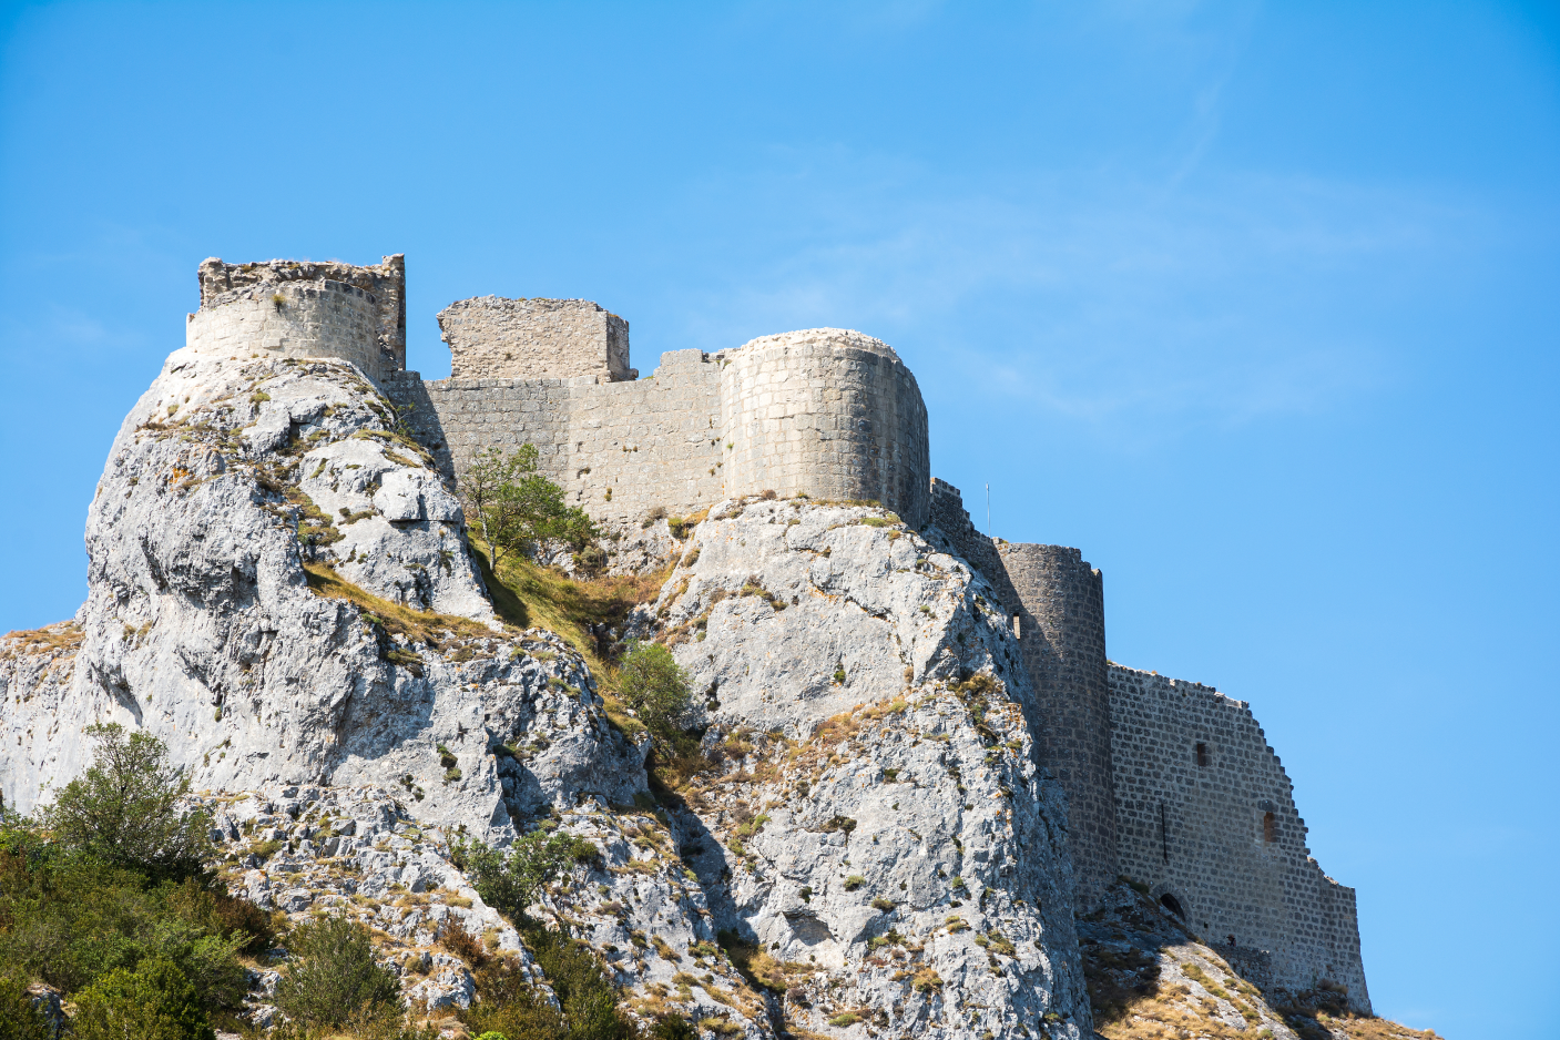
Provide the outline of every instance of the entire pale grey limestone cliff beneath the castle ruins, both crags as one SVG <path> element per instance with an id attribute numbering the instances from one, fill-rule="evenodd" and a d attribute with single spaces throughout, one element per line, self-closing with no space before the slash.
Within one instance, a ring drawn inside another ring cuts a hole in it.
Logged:
<path id="1" fill-rule="evenodd" d="M 471 999 L 434 946 L 451 928 L 518 945 L 454 833 L 551 817 L 599 856 L 532 912 L 644 1017 L 1089 1035 L 1065 811 L 1006 619 L 891 515 L 725 502 L 693 529 L 638 624 L 707 692 L 708 764 L 654 794 L 580 653 L 495 616 L 451 488 L 349 363 L 173 354 L 87 554 L 76 617 L 0 642 L 11 805 L 81 770 L 89 723 L 154 733 L 231 884 L 374 923 L 409 999 Z"/>

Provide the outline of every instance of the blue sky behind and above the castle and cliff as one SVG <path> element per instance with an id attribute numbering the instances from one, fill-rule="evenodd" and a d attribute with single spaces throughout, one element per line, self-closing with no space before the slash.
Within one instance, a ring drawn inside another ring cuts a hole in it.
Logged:
<path id="1" fill-rule="evenodd" d="M 207 256 L 892 343 L 934 472 L 1250 700 L 1381 1013 L 1560 1037 L 1560 25 L 1485 3 L 22 5 L 0 630 Z"/>

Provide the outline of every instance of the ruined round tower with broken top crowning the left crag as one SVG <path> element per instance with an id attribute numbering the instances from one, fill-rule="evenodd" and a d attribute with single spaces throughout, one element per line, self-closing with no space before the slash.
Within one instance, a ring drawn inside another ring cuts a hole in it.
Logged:
<path id="1" fill-rule="evenodd" d="M 374 382 L 406 368 L 406 262 L 376 267 L 268 260 L 200 265 L 200 310 L 184 346 L 200 354 L 337 357 Z"/>

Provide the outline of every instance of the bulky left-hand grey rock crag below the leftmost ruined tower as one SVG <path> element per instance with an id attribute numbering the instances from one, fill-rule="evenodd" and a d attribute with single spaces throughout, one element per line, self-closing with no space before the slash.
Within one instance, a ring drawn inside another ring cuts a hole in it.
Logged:
<path id="1" fill-rule="evenodd" d="M 579 655 L 499 630 L 459 504 L 393 421 L 349 365 L 168 359 L 92 502 L 70 680 L 0 664 L 12 805 L 75 776 L 83 728 L 111 720 L 167 741 L 197 789 L 378 784 L 495 840 L 512 812 L 643 789 Z M 395 635 L 320 594 L 332 572 L 382 611 L 441 616 Z"/>

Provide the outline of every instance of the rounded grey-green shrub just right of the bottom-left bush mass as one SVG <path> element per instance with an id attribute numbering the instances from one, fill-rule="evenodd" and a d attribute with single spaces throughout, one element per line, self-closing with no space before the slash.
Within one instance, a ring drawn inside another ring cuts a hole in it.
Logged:
<path id="1" fill-rule="evenodd" d="M 309 1026 L 343 1026 L 354 1015 L 399 1006 L 401 985 L 374 959 L 367 928 L 346 917 L 301 925 L 289 939 L 293 960 L 276 987 L 276 1006 Z"/>

